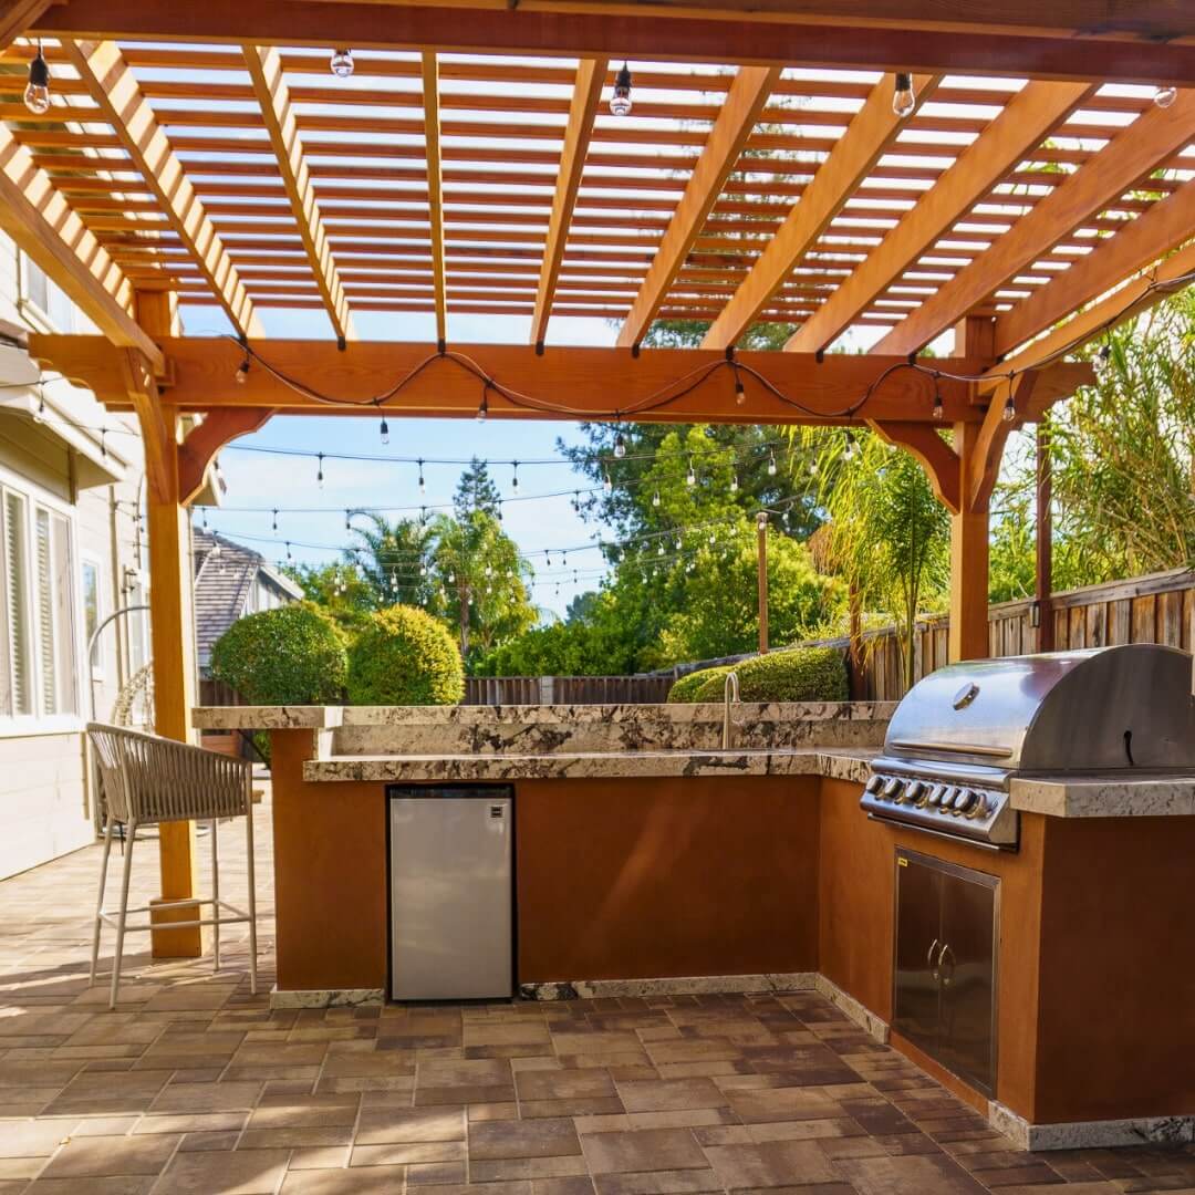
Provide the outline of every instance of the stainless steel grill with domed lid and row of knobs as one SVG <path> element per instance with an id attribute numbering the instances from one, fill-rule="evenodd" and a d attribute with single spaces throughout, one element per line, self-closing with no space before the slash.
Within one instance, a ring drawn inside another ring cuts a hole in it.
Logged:
<path id="1" fill-rule="evenodd" d="M 950 664 L 896 707 L 871 817 L 1016 850 L 1015 777 L 1195 771 L 1191 657 L 1132 643 Z"/>

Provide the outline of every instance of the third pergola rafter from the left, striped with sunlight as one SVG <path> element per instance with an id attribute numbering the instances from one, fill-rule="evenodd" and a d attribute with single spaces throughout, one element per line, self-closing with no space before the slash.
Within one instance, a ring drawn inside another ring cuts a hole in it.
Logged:
<path id="1" fill-rule="evenodd" d="M 327 244 L 319 203 L 311 184 L 302 140 L 290 104 L 290 92 L 282 72 L 282 59 L 276 49 L 256 45 L 244 47 L 244 56 L 253 92 L 262 109 L 265 131 L 269 134 L 277 159 L 278 178 L 294 213 L 295 223 L 299 226 L 299 237 L 311 263 L 315 286 L 324 300 L 332 331 L 339 339 L 347 339 L 353 335 L 349 301 L 341 286 L 341 276 Z"/>

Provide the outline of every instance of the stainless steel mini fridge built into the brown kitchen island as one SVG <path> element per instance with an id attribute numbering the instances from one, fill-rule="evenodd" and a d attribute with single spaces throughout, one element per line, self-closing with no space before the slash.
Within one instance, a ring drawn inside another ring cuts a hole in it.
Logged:
<path id="1" fill-rule="evenodd" d="M 514 994 L 514 792 L 509 785 L 392 785 L 391 994 Z"/>

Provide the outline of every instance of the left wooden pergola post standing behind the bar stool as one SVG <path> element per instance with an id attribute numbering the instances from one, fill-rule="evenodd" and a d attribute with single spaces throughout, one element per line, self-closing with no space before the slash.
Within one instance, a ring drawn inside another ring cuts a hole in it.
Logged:
<path id="1" fill-rule="evenodd" d="M 137 294 L 137 320 L 151 336 L 168 336 L 173 321 L 171 296 Z M 146 451 L 149 531 L 149 619 L 154 672 L 154 729 L 185 742 L 195 704 L 195 623 L 191 614 L 191 538 L 182 502 L 178 459 L 178 411 L 160 403 L 152 379 L 137 416 Z M 159 828 L 159 900 L 189 900 L 198 870 L 194 822 L 165 822 Z M 157 901 L 151 901 L 151 905 Z M 151 920 L 195 920 L 192 909 L 152 912 Z M 203 952 L 200 927 L 155 930 L 155 958 L 196 958 Z"/>

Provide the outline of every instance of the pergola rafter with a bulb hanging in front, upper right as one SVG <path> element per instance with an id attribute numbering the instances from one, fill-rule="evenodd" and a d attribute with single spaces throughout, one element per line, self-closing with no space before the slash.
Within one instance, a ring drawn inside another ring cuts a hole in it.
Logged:
<path id="1" fill-rule="evenodd" d="M 940 79 L 940 75 L 923 75 L 913 80 L 918 106 L 930 98 Z M 893 80 L 885 75 L 851 118 L 813 182 L 755 259 L 734 298 L 722 308 L 722 314 L 705 333 L 701 348 L 727 349 L 739 343 L 896 140 L 902 123 L 893 111 Z"/>

